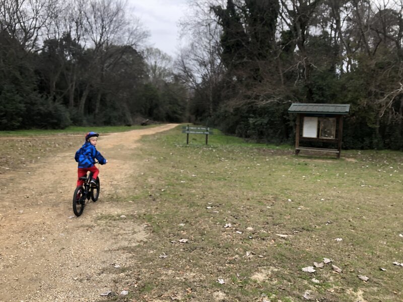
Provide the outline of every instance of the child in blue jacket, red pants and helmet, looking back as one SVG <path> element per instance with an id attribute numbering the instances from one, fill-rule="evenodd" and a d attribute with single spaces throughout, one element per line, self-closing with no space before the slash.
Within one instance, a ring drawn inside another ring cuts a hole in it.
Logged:
<path id="1" fill-rule="evenodd" d="M 96 132 L 88 132 L 85 136 L 85 143 L 80 149 L 77 150 L 74 159 L 79 163 L 78 167 L 78 180 L 77 186 L 82 186 L 84 181 L 80 179 L 82 176 L 86 176 L 87 172 L 93 173 L 91 184 L 96 185 L 96 179 L 99 174 L 99 170 L 95 167 L 95 159 L 101 164 L 105 165 L 108 161 L 99 153 L 96 148 L 99 134 Z"/>

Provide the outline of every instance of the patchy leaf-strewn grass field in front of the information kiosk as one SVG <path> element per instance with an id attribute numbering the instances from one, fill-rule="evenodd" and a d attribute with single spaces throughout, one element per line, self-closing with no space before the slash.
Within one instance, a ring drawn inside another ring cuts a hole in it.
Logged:
<path id="1" fill-rule="evenodd" d="M 400 153 L 337 160 L 218 133 L 209 141 L 186 145 L 176 128 L 133 151 L 142 193 L 127 200 L 152 234 L 127 248 L 138 262 L 126 268 L 137 280 L 127 300 L 403 300 L 393 264 L 403 262 Z"/>

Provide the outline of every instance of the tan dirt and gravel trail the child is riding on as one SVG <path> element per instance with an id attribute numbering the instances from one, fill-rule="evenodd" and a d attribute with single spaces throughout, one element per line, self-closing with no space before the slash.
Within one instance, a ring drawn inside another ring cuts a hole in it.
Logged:
<path id="1" fill-rule="evenodd" d="M 97 222 L 100 215 L 130 214 L 138 206 L 103 201 L 138 189 L 126 177 L 141 173 L 130 157 L 138 139 L 175 126 L 101 136 L 97 147 L 108 159 L 101 166 L 101 195 L 78 218 L 71 199 L 79 146 L 33 164 L 29 172 L 0 175 L 0 301 L 96 301 L 112 289 L 117 267 L 132 261 L 118 248 L 138 244 L 147 233 L 132 220 Z"/>

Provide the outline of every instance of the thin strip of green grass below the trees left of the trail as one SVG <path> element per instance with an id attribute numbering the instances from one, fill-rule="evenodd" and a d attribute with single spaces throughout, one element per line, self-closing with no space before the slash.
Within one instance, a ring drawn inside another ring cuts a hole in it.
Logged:
<path id="1" fill-rule="evenodd" d="M 65 129 L 30 129 L 30 130 L 15 130 L 15 131 L 0 131 L 0 136 L 43 136 L 43 135 L 66 135 L 66 134 L 85 134 L 89 131 L 95 131 L 98 133 L 114 133 L 114 132 L 124 132 L 135 129 L 144 129 L 155 127 L 158 125 L 149 126 L 89 126 L 89 127 L 78 127 L 70 126 Z"/>

